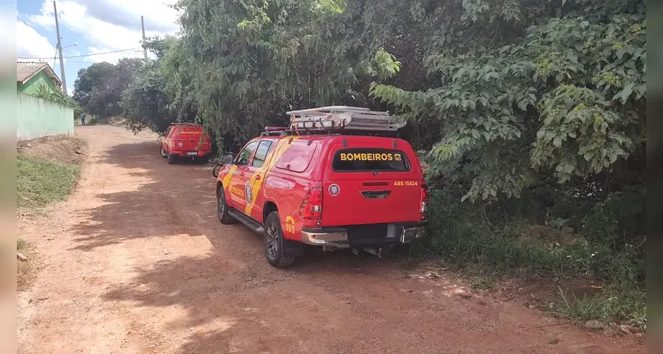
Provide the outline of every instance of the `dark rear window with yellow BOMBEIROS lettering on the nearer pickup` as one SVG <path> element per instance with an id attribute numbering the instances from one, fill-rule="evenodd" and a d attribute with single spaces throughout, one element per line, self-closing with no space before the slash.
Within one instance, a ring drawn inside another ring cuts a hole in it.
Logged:
<path id="1" fill-rule="evenodd" d="M 335 172 L 407 172 L 412 169 L 405 152 L 390 149 L 342 149 L 332 160 Z"/>

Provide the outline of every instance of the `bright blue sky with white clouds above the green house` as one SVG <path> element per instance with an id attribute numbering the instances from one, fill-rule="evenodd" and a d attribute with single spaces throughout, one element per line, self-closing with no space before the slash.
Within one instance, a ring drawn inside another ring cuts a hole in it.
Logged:
<path id="1" fill-rule="evenodd" d="M 141 15 L 145 35 L 175 35 L 177 12 L 169 7 L 176 0 L 58 0 L 58 22 L 65 58 L 66 86 L 81 68 L 119 58 L 143 58 Z M 58 38 L 52 0 L 20 0 L 16 5 L 16 57 L 19 61 L 45 61 L 53 66 Z M 77 44 L 77 45 L 74 45 Z M 103 54 L 111 51 L 126 50 Z M 99 55 L 90 55 L 102 53 Z M 84 56 L 80 58 L 67 58 Z M 153 55 L 150 54 L 153 58 Z M 54 70 L 60 75 L 59 61 Z"/>

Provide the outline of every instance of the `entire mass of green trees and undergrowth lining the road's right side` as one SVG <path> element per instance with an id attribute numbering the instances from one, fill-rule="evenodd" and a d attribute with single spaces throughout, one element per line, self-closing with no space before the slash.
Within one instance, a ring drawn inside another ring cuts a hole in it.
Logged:
<path id="1" fill-rule="evenodd" d="M 414 258 L 500 277 L 599 282 L 551 294 L 578 321 L 644 316 L 643 0 L 181 0 L 157 60 L 90 65 L 76 100 L 238 148 L 291 109 L 389 110 L 432 189 Z M 563 295 L 563 296 L 562 296 Z"/>

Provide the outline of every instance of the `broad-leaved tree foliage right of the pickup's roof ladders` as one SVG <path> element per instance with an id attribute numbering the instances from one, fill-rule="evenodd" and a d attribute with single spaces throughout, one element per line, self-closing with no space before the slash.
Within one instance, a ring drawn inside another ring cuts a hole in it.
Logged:
<path id="1" fill-rule="evenodd" d="M 396 106 L 405 119 L 439 122 L 443 139 L 428 152 L 430 178 L 469 183 L 464 198 L 473 201 L 497 200 L 498 193 L 520 196 L 546 174 L 564 183 L 610 170 L 643 149 L 644 12 L 596 22 L 572 12 L 514 31 L 497 45 L 467 47 L 449 35 L 488 29 L 479 22 L 485 16 L 487 23 L 503 16 L 520 27 L 531 19 L 520 18 L 524 11 L 489 12 L 484 1 L 463 7 L 448 15 L 452 23 L 441 21 L 441 43 L 426 59 L 438 87 L 371 87 L 372 96 Z"/>

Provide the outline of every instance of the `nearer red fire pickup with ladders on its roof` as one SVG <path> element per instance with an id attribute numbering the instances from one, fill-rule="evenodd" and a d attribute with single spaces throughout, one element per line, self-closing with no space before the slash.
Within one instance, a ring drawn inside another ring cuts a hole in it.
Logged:
<path id="1" fill-rule="evenodd" d="M 267 128 L 216 181 L 220 222 L 263 234 L 267 261 L 289 266 L 304 244 L 325 250 L 389 250 L 424 235 L 428 187 L 386 112 L 333 106 L 288 112 L 288 128 Z"/>

